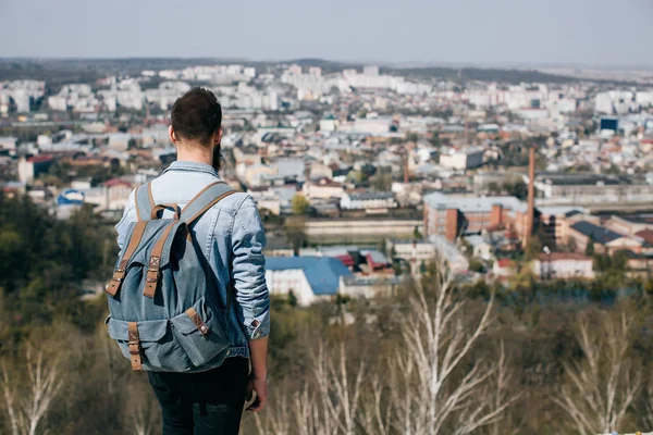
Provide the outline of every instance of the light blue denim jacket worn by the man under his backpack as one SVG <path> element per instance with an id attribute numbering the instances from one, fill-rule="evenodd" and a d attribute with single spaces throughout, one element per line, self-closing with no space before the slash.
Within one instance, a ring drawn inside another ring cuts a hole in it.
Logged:
<path id="1" fill-rule="evenodd" d="M 217 179 L 218 172 L 208 164 L 174 162 L 151 182 L 152 196 L 156 203 L 174 202 L 183 208 Z M 123 217 L 115 225 L 121 250 L 128 224 L 137 220 L 134 195 L 130 195 Z M 163 217 L 171 216 L 172 211 L 165 210 Z M 262 254 L 266 235 L 256 204 L 247 194 L 231 195 L 207 211 L 192 231 L 218 276 L 219 296 L 225 303 L 227 284 L 234 279 L 227 357 L 249 357 L 249 339 L 270 333 L 270 297 Z"/>

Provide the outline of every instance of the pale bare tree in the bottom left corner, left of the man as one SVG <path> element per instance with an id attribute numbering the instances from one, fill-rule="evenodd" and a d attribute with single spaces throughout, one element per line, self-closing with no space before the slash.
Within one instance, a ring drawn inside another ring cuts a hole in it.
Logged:
<path id="1" fill-rule="evenodd" d="M 27 346 L 25 365 L 28 385 L 22 386 L 19 395 L 11 386 L 7 365 L 2 364 L 2 389 L 12 435 L 36 435 L 41 419 L 62 386 L 57 359 L 45 362 L 42 350 L 35 359 L 32 347 Z"/>

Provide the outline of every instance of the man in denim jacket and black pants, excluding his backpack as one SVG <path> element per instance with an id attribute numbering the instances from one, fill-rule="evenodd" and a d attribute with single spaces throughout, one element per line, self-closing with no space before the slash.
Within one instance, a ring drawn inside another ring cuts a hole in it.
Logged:
<path id="1" fill-rule="evenodd" d="M 184 207 L 206 186 L 219 179 L 222 109 L 206 89 L 193 89 L 172 108 L 170 140 L 177 161 L 151 182 L 156 203 Z M 215 156 L 215 158 L 214 158 Z M 171 211 L 167 216 L 172 215 Z M 116 225 L 121 249 L 131 222 L 137 220 L 134 192 Z M 268 397 L 267 355 L 270 300 L 266 285 L 263 226 L 251 197 L 231 195 L 208 210 L 192 227 L 220 282 L 222 300 L 234 290 L 230 307 L 230 349 L 224 363 L 201 373 L 149 372 L 161 405 L 164 435 L 237 434 L 247 395 L 256 400 L 247 409 L 258 412 Z M 249 365 L 251 374 L 248 376 Z"/>

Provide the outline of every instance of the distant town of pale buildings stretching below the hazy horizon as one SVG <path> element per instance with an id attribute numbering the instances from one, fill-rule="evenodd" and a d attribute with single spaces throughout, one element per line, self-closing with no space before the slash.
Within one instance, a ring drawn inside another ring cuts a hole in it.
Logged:
<path id="1" fill-rule="evenodd" d="M 391 294 L 435 256 L 469 283 L 592 279 L 597 257 L 648 279 L 653 86 L 531 76 L 301 62 L 12 77 L 0 187 L 118 222 L 174 161 L 170 108 L 201 86 L 224 112 L 221 176 L 266 223 L 272 294 Z"/>

